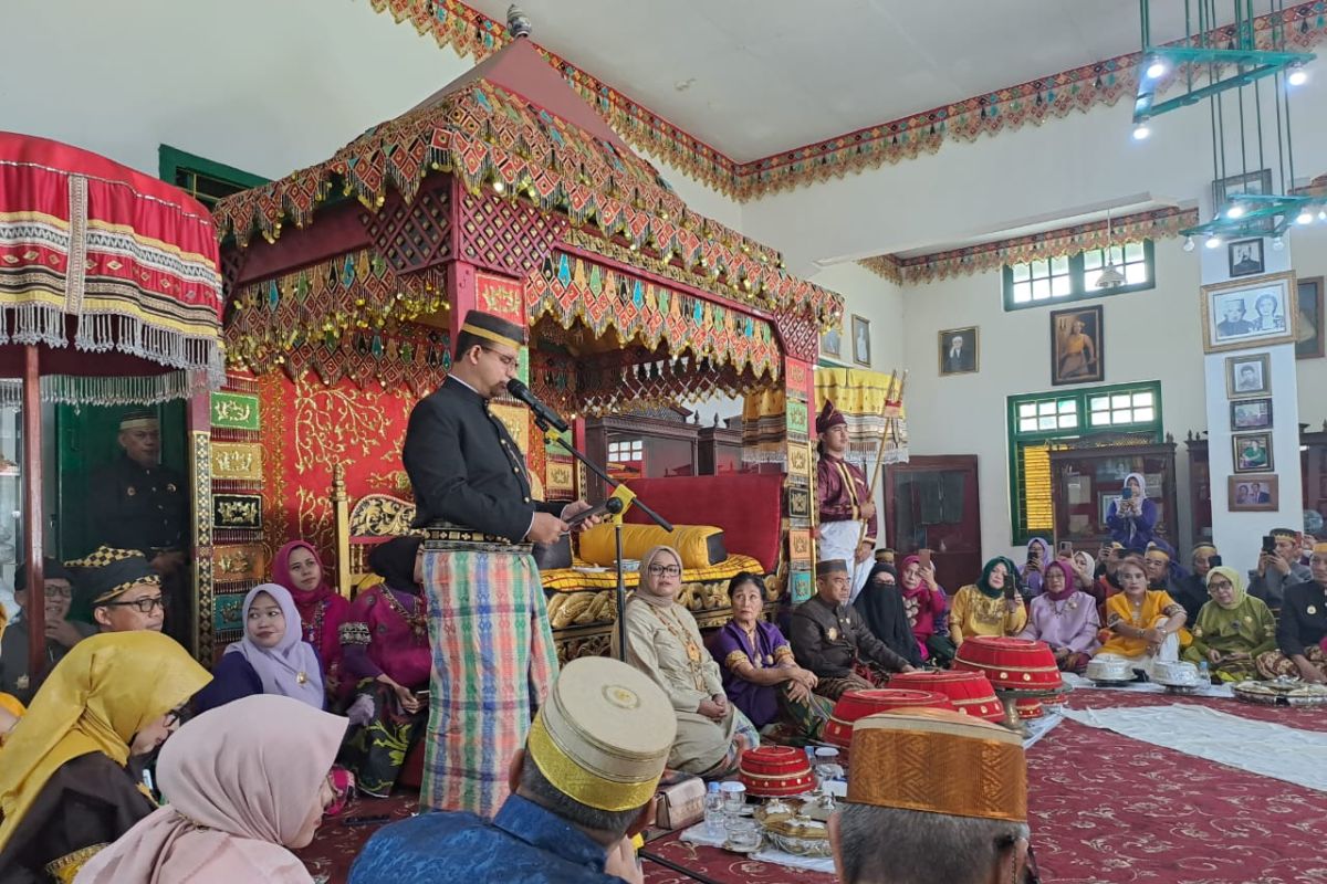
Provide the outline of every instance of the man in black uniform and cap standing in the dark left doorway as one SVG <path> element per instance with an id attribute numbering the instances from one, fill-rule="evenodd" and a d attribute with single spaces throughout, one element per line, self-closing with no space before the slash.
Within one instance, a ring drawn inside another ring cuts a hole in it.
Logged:
<path id="1" fill-rule="evenodd" d="M 92 477 L 90 538 L 98 546 L 138 550 L 162 578 L 165 632 L 188 647 L 192 603 L 186 580 L 188 481 L 161 463 L 157 415 L 138 410 L 119 421 L 123 456 Z"/>

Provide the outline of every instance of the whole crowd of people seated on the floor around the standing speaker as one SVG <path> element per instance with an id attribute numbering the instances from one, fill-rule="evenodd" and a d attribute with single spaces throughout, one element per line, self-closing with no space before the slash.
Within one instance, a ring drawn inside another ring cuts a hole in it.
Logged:
<path id="1" fill-rule="evenodd" d="M 654 547 L 626 603 L 625 665 L 564 667 L 511 761 L 512 793 L 494 820 L 429 814 L 389 826 L 352 880 L 423 881 L 442 860 L 484 880 L 494 848 L 503 868 L 552 854 L 580 869 L 565 880 L 640 880 L 629 839 L 648 824 L 665 767 L 725 778 L 762 737 L 817 741 L 844 692 L 947 665 L 974 636 L 1046 641 L 1067 672 L 1113 653 L 1141 672 L 1182 657 L 1214 680 L 1327 683 L 1327 543 L 1302 562 L 1295 531 L 1273 537 L 1247 579 L 1212 546 L 1196 549 L 1186 571 L 1156 538 L 1096 558 L 1038 541 L 1022 567 L 993 558 L 953 596 L 921 555 L 896 569 L 884 551 L 855 602 L 847 563 L 820 562 L 816 594 L 787 634 L 764 616 L 764 579 L 742 573 L 729 584 L 731 620 L 709 639 L 678 600 L 681 554 Z M 42 667 L 29 671 L 21 582 L 0 636 L 0 880 L 257 880 L 255 869 L 309 880 L 289 850 L 353 794 L 389 795 L 427 721 L 421 559 L 418 538 L 378 545 L 369 562 L 382 582 L 349 602 L 311 545 L 288 543 L 273 582 L 245 595 L 243 634 L 211 673 L 162 635 L 161 578 L 141 553 L 46 561 Z M 70 616 L 80 600 L 90 622 Z M 872 718 L 853 753 L 910 750 L 918 733 L 950 741 L 955 758 L 1007 742 L 999 729 L 941 718 Z M 963 861 L 1022 873 L 1026 802 L 954 816 L 888 803 L 901 783 L 859 782 L 832 826 L 843 880 L 872 880 L 890 855 L 934 861 L 934 850 L 909 844 L 977 830 L 999 838 Z M 170 803 L 158 807 L 163 795 Z M 885 830 L 888 839 L 871 838 Z"/>

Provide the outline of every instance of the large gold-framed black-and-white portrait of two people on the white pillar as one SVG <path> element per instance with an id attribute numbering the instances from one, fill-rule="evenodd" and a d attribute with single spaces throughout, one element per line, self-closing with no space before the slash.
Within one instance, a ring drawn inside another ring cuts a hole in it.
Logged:
<path id="1" fill-rule="evenodd" d="M 1239 350 L 1295 339 L 1294 273 L 1269 273 L 1202 286 L 1202 351 Z"/>

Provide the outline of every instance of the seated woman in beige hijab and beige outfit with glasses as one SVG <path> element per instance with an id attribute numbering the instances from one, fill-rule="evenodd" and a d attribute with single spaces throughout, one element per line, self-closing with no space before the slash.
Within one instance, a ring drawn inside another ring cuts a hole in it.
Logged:
<path id="1" fill-rule="evenodd" d="M 678 604 L 682 555 L 656 546 L 641 559 L 640 588 L 626 603 L 626 661 L 653 679 L 677 712 L 667 766 L 706 779 L 727 777 L 760 734 L 723 693 L 719 664 L 701 640 L 695 618 Z M 617 655 L 617 630 L 613 630 Z"/>

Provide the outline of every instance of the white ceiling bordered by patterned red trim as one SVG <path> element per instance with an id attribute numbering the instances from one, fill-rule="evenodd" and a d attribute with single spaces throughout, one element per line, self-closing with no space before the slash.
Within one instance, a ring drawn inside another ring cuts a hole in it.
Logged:
<path id="1" fill-rule="evenodd" d="M 468 1 L 506 21 L 510 0 Z M 1140 48 L 1136 0 L 519 5 L 536 42 L 740 162 Z M 1152 7 L 1154 42 L 1184 36 L 1184 4 Z"/>

